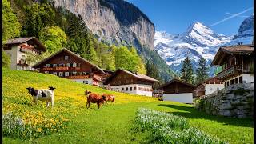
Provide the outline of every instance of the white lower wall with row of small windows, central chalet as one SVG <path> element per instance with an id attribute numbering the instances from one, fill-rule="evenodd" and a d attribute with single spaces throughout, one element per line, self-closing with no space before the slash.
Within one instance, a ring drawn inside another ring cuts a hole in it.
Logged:
<path id="1" fill-rule="evenodd" d="M 152 91 L 139 90 L 139 88 L 147 88 L 151 90 L 152 89 L 151 85 L 130 84 L 130 85 L 110 86 L 110 87 L 114 90 L 120 90 L 124 93 L 138 94 L 138 95 L 145 95 L 145 96 L 152 97 Z M 127 87 L 128 87 L 128 90 L 126 90 Z M 132 90 L 130 90 L 130 87 L 132 87 Z M 134 87 L 136 87 L 136 90 L 134 90 Z"/>

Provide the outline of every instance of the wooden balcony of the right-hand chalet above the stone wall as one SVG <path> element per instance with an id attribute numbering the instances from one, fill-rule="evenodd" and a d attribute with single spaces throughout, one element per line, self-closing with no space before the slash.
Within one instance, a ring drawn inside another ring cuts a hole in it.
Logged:
<path id="1" fill-rule="evenodd" d="M 234 66 L 230 66 L 227 69 L 222 70 L 220 73 L 218 73 L 217 78 L 220 78 L 220 79 L 231 78 L 231 77 L 234 77 L 241 73 L 242 73 L 242 66 L 234 65 Z"/>

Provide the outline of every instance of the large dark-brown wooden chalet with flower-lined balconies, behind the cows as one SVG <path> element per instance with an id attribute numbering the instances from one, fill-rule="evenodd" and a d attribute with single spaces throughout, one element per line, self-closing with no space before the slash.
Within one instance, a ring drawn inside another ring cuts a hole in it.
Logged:
<path id="1" fill-rule="evenodd" d="M 105 72 L 66 48 L 35 64 L 40 73 L 54 74 L 76 82 L 98 86 Z"/>

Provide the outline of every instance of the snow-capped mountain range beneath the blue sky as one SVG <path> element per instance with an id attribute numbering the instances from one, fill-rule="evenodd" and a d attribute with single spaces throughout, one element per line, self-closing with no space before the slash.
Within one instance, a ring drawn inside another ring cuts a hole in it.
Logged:
<path id="1" fill-rule="evenodd" d="M 237 42 L 251 43 L 253 37 L 253 16 L 246 18 L 235 36 L 216 34 L 210 27 L 201 22 L 193 22 L 183 34 L 168 34 L 156 31 L 154 35 L 154 50 L 165 59 L 171 70 L 179 73 L 182 61 L 188 56 L 194 66 L 203 57 L 207 64 L 213 60 L 219 46 L 237 45 Z M 210 75 L 214 74 L 214 67 L 210 68 Z"/>

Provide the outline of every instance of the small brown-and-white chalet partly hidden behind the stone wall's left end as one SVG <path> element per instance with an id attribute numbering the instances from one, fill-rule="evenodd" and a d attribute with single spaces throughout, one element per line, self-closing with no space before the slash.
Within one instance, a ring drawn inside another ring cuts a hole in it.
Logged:
<path id="1" fill-rule="evenodd" d="M 224 84 L 217 77 L 208 78 L 204 82 L 198 84 L 196 90 L 194 90 L 194 98 L 199 98 L 202 95 L 212 94 L 214 91 L 222 90 Z"/>

